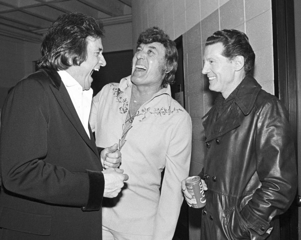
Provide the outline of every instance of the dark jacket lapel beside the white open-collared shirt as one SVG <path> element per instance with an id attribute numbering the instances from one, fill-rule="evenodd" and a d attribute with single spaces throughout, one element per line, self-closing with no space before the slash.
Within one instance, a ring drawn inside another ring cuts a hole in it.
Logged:
<path id="1" fill-rule="evenodd" d="M 74 126 L 74 128 L 77 130 L 79 135 L 82 137 L 82 139 L 87 143 L 87 145 L 95 152 L 95 154 L 99 158 L 99 154 L 95 145 L 94 137 L 92 135 L 91 137 L 91 128 L 89 126 L 89 131 L 90 131 L 90 137 L 91 140 L 89 139 L 86 130 L 84 129 L 81 120 L 79 119 L 77 112 L 74 108 L 74 105 L 71 101 L 71 98 L 69 96 L 69 93 L 65 87 L 64 84 L 61 82 L 61 77 L 56 71 L 50 71 L 50 70 L 45 70 L 43 71 L 50 77 L 52 80 L 53 84 L 50 85 L 50 89 L 53 92 L 56 100 L 58 101 L 59 105 L 61 106 L 62 110 Z"/>

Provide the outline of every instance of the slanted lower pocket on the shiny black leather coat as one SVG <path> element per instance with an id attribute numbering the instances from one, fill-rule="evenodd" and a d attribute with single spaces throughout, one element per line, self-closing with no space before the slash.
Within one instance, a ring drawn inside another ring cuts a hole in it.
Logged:
<path id="1" fill-rule="evenodd" d="M 230 239 L 250 239 L 250 233 L 245 221 L 241 218 L 236 206 L 224 211 L 223 227 Z"/>

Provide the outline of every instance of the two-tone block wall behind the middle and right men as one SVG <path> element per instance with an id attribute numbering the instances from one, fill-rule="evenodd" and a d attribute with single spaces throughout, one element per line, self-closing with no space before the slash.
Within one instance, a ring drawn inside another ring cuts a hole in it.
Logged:
<path id="1" fill-rule="evenodd" d="M 186 109 L 193 124 L 190 175 L 198 174 L 203 166 L 204 155 L 201 118 L 211 108 L 215 98 L 215 94 L 208 89 L 207 77 L 202 75 L 202 53 L 206 38 L 224 28 L 245 32 L 256 54 L 254 77 L 263 89 L 273 94 L 271 1 L 133 0 L 132 6 L 133 43 L 141 31 L 151 26 L 164 29 L 172 39 L 183 35 Z M 197 220 L 197 214 L 189 214 L 190 220 Z M 197 224 L 191 223 L 190 240 L 199 239 Z"/>

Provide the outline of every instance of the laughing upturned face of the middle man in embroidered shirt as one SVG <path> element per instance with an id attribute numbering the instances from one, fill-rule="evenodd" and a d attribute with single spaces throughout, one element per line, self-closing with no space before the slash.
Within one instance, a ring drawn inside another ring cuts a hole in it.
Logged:
<path id="1" fill-rule="evenodd" d="M 133 57 L 131 81 L 137 86 L 160 88 L 164 79 L 165 47 L 141 43 Z"/>

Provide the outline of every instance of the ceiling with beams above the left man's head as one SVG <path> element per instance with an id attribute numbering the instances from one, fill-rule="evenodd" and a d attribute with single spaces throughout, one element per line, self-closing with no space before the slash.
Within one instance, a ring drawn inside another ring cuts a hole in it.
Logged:
<path id="1" fill-rule="evenodd" d="M 0 35 L 40 43 L 61 14 L 81 12 L 103 25 L 132 21 L 132 0 L 0 0 Z"/>

